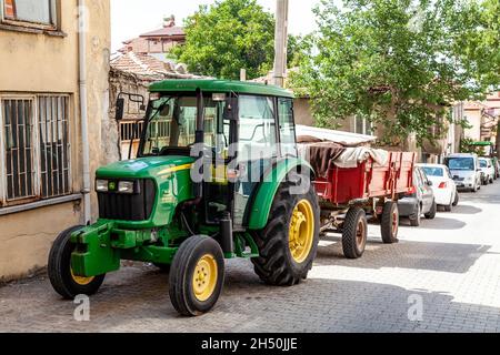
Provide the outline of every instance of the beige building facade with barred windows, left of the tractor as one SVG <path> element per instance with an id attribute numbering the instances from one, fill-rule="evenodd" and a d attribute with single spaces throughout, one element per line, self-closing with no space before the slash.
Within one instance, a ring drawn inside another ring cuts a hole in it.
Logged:
<path id="1" fill-rule="evenodd" d="M 61 231 L 96 217 L 84 212 L 109 120 L 109 0 L 0 0 L 0 281 L 10 281 L 43 268 Z"/>

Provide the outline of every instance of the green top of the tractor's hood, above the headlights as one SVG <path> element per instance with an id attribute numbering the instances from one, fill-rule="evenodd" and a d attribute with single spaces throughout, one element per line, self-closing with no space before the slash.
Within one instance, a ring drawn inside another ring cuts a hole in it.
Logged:
<path id="1" fill-rule="evenodd" d="M 122 161 L 100 168 L 98 179 L 148 179 L 189 170 L 194 163 L 190 156 L 152 156 Z"/>

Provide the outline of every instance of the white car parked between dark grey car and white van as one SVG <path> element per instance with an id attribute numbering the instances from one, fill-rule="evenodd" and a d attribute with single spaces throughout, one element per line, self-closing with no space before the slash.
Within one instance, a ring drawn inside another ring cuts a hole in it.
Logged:
<path id="1" fill-rule="evenodd" d="M 452 207 L 459 203 L 459 194 L 448 166 L 441 164 L 419 164 L 418 166 L 432 182 L 431 187 L 434 192 L 436 203 L 443 206 L 444 211 L 451 212 Z"/>

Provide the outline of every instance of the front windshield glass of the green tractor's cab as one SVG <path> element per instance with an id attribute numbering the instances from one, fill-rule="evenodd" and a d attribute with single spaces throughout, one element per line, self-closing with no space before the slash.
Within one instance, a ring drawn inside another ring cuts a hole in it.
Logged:
<path id="1" fill-rule="evenodd" d="M 227 145 L 218 140 L 218 125 L 222 122 L 226 103 L 204 99 L 204 143 L 209 146 Z M 162 97 L 151 101 L 141 155 L 166 155 L 169 149 L 189 149 L 196 143 L 198 105 L 196 95 Z M 224 130 L 219 134 L 226 135 Z M 224 148 L 222 148 L 224 149 Z"/>

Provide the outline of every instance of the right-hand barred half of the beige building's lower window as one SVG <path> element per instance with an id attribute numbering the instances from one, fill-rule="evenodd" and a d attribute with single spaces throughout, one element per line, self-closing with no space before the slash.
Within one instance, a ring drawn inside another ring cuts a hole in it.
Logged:
<path id="1" fill-rule="evenodd" d="M 43 199 L 70 193 L 68 97 L 39 97 L 40 174 Z"/>

